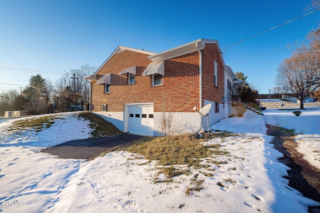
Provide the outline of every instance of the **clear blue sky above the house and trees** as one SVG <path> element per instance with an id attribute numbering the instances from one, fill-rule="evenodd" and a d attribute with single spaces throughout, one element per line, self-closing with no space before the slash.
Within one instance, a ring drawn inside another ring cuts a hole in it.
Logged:
<path id="1" fill-rule="evenodd" d="M 320 10 L 223 48 L 307 13 L 310 10 L 304 9 L 310 3 L 0 0 L 0 91 L 19 90 L 19 85 L 26 85 L 37 73 L 54 83 L 64 70 L 86 63 L 99 67 L 118 45 L 161 52 L 205 38 L 218 40 L 225 64 L 248 75 L 247 81 L 260 94 L 268 93 L 277 67 L 292 54 L 286 46 L 303 42 L 305 35 L 319 26 Z"/>

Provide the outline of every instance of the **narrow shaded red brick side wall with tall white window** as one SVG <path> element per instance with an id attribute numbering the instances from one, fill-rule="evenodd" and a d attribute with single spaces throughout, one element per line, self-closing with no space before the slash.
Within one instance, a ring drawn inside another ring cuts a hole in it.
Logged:
<path id="1" fill-rule="evenodd" d="M 218 63 L 218 82 L 214 86 L 214 60 Z M 224 67 L 217 44 L 206 43 L 202 50 L 202 106 L 203 100 L 222 103 Z"/>

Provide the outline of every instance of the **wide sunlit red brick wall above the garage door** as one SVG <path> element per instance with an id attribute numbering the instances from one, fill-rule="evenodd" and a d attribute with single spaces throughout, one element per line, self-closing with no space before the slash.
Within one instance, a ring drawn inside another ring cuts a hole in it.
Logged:
<path id="1" fill-rule="evenodd" d="M 113 55 L 97 73 L 97 79 L 111 74 L 110 93 L 103 93 L 103 84 L 92 81 L 92 111 L 100 111 L 100 104 L 108 104 L 108 111 L 123 111 L 124 103 L 154 102 L 154 112 L 164 107 L 172 112 L 194 112 L 199 98 L 199 56 L 189 53 L 164 61 L 163 85 L 151 86 L 151 78 L 142 76 L 144 69 L 152 61 L 148 55 L 124 50 Z M 136 67 L 134 84 L 127 84 L 127 76 L 119 72 Z"/>

